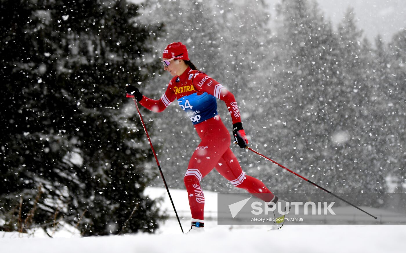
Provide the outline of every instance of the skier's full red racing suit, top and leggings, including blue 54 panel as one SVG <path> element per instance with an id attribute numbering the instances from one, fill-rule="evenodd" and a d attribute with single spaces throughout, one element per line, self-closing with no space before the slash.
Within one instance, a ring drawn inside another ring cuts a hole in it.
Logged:
<path id="1" fill-rule="evenodd" d="M 275 196 L 258 179 L 242 171 L 240 164 L 230 149 L 229 131 L 217 114 L 216 99 L 227 105 L 233 123 L 241 122 L 234 95 L 205 73 L 188 67 L 180 76 L 175 76 L 158 100 L 143 96 L 140 104 L 154 112 L 162 112 L 175 99 L 187 112 L 201 143 L 190 158 L 184 183 L 188 192 L 192 218 L 203 220 L 204 195 L 200 181 L 213 168 L 234 186 L 246 189 L 263 201 L 273 201 Z"/>

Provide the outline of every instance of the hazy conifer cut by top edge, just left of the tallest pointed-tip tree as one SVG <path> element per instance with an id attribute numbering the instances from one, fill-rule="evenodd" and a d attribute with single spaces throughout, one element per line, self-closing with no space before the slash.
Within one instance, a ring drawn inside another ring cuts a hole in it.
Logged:
<path id="1" fill-rule="evenodd" d="M 326 90 L 334 78 L 333 29 L 317 4 L 309 1 L 282 1 L 278 15 L 281 24 L 276 31 L 276 47 L 283 53 L 277 54 L 273 63 L 273 92 L 279 98 L 274 104 L 278 117 L 276 154 L 290 158 L 286 160 L 289 166 L 305 177 L 328 184 L 320 170 L 327 169 L 328 173 L 335 167 L 327 160 L 326 130 L 330 126 L 325 108 Z M 296 185 L 297 181 L 292 183 Z"/>

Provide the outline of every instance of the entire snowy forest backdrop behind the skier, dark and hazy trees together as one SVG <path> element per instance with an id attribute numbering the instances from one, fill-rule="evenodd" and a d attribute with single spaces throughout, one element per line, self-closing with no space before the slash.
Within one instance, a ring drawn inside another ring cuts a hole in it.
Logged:
<path id="1" fill-rule="evenodd" d="M 143 190 L 162 179 L 124 85 L 158 99 L 171 79 L 162 50 L 173 41 L 235 95 L 257 151 L 336 193 L 404 193 L 406 29 L 369 41 L 352 9 L 333 26 L 315 1 L 280 2 L 272 17 L 263 0 L 0 0 L 0 230 L 158 227 L 163 217 Z M 140 110 L 168 185 L 184 188 L 199 144 L 192 123 L 176 103 Z M 218 112 L 231 131 L 221 101 Z M 315 190 L 232 149 L 277 195 Z M 201 185 L 241 191 L 216 170 Z"/>

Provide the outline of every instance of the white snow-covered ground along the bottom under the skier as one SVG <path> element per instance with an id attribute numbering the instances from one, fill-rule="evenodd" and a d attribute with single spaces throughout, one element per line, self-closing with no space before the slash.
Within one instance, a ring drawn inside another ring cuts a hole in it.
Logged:
<path id="1" fill-rule="evenodd" d="M 148 188 L 152 198 L 164 196 L 166 190 Z M 185 231 L 190 226 L 187 195 L 171 190 L 175 207 Z M 205 191 L 206 210 L 214 210 L 217 194 Z M 170 202 L 162 207 L 172 211 Z M 184 212 L 183 212 L 184 211 Z M 173 211 L 172 211 L 173 212 Z M 268 231 L 266 225 L 217 225 L 216 219 L 205 221 L 205 233 L 184 235 L 177 220 L 169 219 L 156 234 L 99 236 L 80 238 L 59 231 L 48 238 L 42 231 L 32 236 L 0 232 L 0 252 L 28 253 L 111 253 L 111 252 L 405 252 L 406 225 L 287 225 Z"/>

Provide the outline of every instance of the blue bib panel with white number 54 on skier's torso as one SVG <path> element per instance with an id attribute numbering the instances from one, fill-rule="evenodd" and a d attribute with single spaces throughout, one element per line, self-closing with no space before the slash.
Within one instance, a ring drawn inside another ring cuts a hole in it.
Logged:
<path id="1" fill-rule="evenodd" d="M 192 93 L 181 97 L 177 102 L 185 110 L 193 125 L 218 115 L 216 97 L 207 92 L 201 95 Z"/>

